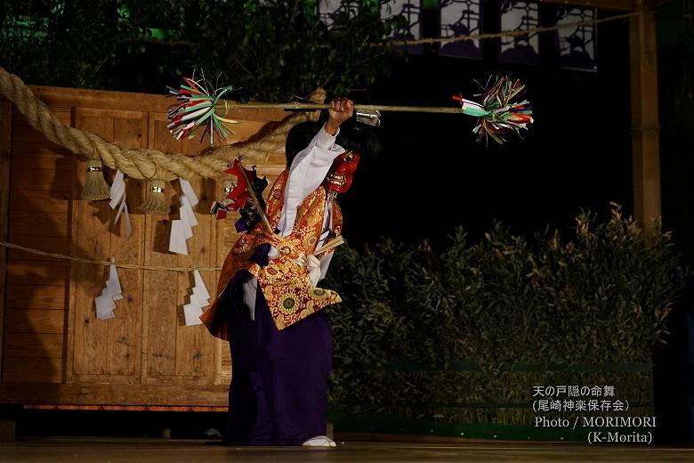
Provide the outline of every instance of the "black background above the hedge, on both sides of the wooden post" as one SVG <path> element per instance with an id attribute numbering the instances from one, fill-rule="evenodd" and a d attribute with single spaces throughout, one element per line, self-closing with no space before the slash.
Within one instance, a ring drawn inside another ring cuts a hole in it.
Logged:
<path id="1" fill-rule="evenodd" d="M 662 211 L 666 231 L 682 262 L 694 264 L 694 87 L 690 0 L 669 2 L 658 12 L 658 80 L 661 123 Z M 489 4 L 489 3 L 488 3 Z M 484 9 L 485 21 L 497 20 Z M 541 18 L 553 13 L 541 5 Z M 605 17 L 599 12 L 599 17 Z M 435 28 L 433 20 L 424 28 Z M 535 124 L 524 140 L 480 146 L 473 120 L 457 115 L 389 113 L 378 130 L 381 158 L 362 160 L 352 190 L 340 198 L 343 233 L 352 244 L 378 236 L 429 240 L 446 246 L 463 226 L 472 243 L 494 221 L 531 239 L 558 229 L 570 239 L 581 209 L 606 219 L 610 202 L 633 215 L 628 23 L 598 26 L 597 70 L 561 69 L 553 36 L 540 36 L 539 65 L 497 60 L 498 42 L 483 43 L 481 61 L 438 57 L 432 47 L 397 61 L 391 77 L 371 86 L 359 101 L 448 106 L 453 94 L 477 91 L 472 80 L 490 74 L 519 77 L 528 85 Z M 359 97 L 356 97 L 359 98 Z M 692 442 L 694 321 L 691 285 L 674 306 L 670 336 L 654 354 L 654 404 L 658 443 Z"/>

